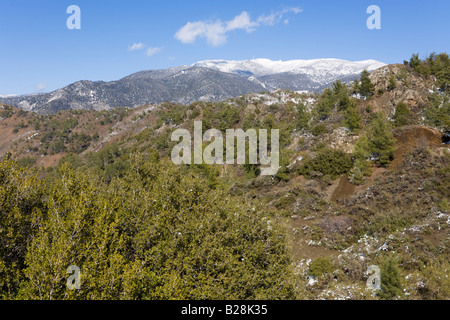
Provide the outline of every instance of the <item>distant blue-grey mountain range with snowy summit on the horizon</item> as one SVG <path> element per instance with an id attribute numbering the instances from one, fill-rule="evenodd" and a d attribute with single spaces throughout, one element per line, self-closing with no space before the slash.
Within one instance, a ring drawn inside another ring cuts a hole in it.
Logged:
<path id="1" fill-rule="evenodd" d="M 66 109 L 137 107 L 165 101 L 220 101 L 262 90 L 321 91 L 337 79 L 359 77 L 384 66 L 375 60 L 207 60 L 191 66 L 134 73 L 117 81 L 78 81 L 49 93 L 0 96 L 0 102 L 49 114 Z"/>

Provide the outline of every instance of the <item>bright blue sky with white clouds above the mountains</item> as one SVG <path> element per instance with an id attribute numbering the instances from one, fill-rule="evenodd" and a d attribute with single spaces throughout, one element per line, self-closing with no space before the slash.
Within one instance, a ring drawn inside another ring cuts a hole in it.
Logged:
<path id="1" fill-rule="evenodd" d="M 81 29 L 69 30 L 70 5 Z M 369 30 L 369 5 L 381 30 Z M 448 0 L 2 0 L 0 95 L 200 60 L 402 62 L 450 53 Z"/>

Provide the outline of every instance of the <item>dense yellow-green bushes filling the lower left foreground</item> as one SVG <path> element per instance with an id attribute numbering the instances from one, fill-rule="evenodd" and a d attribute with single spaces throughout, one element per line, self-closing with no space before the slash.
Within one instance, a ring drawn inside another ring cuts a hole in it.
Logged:
<path id="1" fill-rule="evenodd" d="M 117 150 L 92 160 L 107 170 Z M 295 297 L 282 232 L 169 161 L 131 155 L 103 182 L 63 165 L 41 181 L 0 162 L 0 295 L 25 299 Z M 81 269 L 68 290 L 66 269 Z"/>

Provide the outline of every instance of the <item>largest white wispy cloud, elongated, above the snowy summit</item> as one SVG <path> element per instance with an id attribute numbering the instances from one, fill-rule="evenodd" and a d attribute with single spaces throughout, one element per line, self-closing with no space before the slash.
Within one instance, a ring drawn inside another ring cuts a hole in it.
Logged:
<path id="1" fill-rule="evenodd" d="M 227 33 L 233 30 L 245 30 L 250 33 L 261 25 L 273 26 L 279 23 L 287 13 L 300 13 L 300 8 L 286 8 L 270 15 L 261 15 L 256 21 L 252 21 L 246 11 L 234 17 L 233 20 L 223 22 L 217 21 L 196 21 L 188 22 L 175 34 L 175 38 L 182 43 L 193 43 L 197 38 L 205 38 L 206 42 L 217 47 L 227 42 Z M 286 23 L 286 22 L 285 22 Z"/>

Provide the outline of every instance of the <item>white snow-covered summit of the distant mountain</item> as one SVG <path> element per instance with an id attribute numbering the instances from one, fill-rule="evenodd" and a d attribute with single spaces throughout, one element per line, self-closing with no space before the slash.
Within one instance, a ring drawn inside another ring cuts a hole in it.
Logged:
<path id="1" fill-rule="evenodd" d="M 193 64 L 194 67 L 211 68 L 222 72 L 255 77 L 272 76 L 280 73 L 291 75 L 307 75 L 310 80 L 320 84 L 360 74 L 364 69 L 373 71 L 385 66 L 376 60 L 346 61 L 339 59 L 289 60 L 272 61 L 269 59 L 254 59 L 241 61 L 205 60 Z"/>

